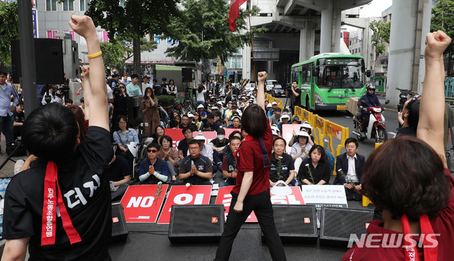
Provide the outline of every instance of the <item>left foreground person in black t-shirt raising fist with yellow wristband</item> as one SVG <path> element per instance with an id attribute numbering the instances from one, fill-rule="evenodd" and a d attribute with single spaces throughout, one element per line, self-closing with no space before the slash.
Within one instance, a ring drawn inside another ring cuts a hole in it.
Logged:
<path id="1" fill-rule="evenodd" d="M 88 132 L 79 143 L 74 113 L 57 103 L 35 109 L 23 123 L 23 145 L 38 159 L 6 189 L 2 260 L 24 260 L 27 245 L 30 260 L 111 260 L 104 63 L 92 18 L 73 14 L 70 26 L 90 54 L 90 67 L 82 67 Z"/>

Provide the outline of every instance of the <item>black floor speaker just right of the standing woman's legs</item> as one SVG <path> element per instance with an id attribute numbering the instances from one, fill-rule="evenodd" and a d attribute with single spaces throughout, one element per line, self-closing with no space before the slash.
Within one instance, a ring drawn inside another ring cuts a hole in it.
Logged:
<path id="1" fill-rule="evenodd" d="M 282 243 L 317 243 L 319 233 L 315 205 L 275 204 L 272 209 Z M 265 243 L 263 234 L 262 242 Z"/>

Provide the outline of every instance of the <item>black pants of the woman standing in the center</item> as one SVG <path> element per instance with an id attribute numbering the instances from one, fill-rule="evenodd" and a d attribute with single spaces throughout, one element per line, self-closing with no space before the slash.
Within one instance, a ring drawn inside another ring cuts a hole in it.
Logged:
<path id="1" fill-rule="evenodd" d="M 262 228 L 263 235 L 265 235 L 272 260 L 287 260 L 279 233 L 277 233 L 275 226 L 270 190 L 263 191 L 254 196 L 246 196 L 243 202 L 243 211 L 240 213 L 236 213 L 233 210 L 233 206 L 235 206 L 236 200 L 238 199 L 238 194 L 233 191 L 231 194 L 232 202 L 228 211 L 226 228 L 224 228 L 224 232 L 222 233 L 221 242 L 219 243 L 214 260 L 228 260 L 232 251 L 233 240 L 235 240 L 238 231 L 240 231 L 241 226 L 243 226 L 243 223 L 245 223 L 246 218 L 248 218 L 252 211 L 257 216 L 260 228 Z"/>

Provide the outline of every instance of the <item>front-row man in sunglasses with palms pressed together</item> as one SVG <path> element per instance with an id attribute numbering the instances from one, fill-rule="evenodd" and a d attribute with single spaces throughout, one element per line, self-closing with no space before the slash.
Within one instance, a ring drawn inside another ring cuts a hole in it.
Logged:
<path id="1" fill-rule="evenodd" d="M 150 143 L 147 147 L 148 160 L 140 163 L 139 179 L 142 184 L 157 184 L 167 182 L 169 167 L 167 162 L 157 157 L 161 146 L 157 143 Z"/>

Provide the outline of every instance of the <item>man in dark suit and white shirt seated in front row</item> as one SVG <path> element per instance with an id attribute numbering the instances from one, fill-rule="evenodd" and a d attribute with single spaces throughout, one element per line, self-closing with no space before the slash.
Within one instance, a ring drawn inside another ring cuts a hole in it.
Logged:
<path id="1" fill-rule="evenodd" d="M 346 152 L 336 157 L 336 179 L 333 185 L 343 185 L 347 200 L 361 200 L 361 176 L 364 170 L 365 157 L 356 153 L 358 140 L 348 138 L 345 140 Z M 343 173 L 341 173 L 341 170 Z"/>

